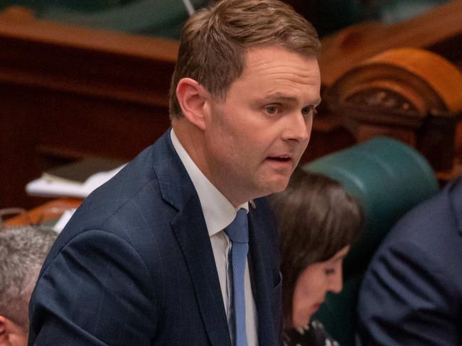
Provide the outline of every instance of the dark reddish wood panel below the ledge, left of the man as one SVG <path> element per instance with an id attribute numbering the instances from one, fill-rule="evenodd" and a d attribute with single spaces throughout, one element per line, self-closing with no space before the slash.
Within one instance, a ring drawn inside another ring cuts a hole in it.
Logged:
<path id="1" fill-rule="evenodd" d="M 168 128 L 166 106 L 0 84 L 0 208 L 43 199 L 24 186 L 43 170 L 89 155 L 130 160 Z"/>

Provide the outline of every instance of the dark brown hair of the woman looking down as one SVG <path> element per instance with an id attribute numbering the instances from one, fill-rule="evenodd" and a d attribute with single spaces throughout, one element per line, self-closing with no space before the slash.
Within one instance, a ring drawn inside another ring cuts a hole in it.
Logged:
<path id="1" fill-rule="evenodd" d="M 269 199 L 279 228 L 284 319 L 292 314 L 296 281 L 308 265 L 330 259 L 360 235 L 360 203 L 340 182 L 297 168 L 284 191 Z"/>

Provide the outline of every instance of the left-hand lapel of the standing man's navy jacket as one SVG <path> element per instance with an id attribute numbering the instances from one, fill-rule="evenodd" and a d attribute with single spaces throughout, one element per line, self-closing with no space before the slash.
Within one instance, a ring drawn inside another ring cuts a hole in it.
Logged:
<path id="1" fill-rule="evenodd" d="M 171 225 L 188 266 L 210 343 L 215 346 L 231 346 L 220 280 L 200 201 L 185 167 L 173 149 L 169 131 L 167 135 L 164 135 L 163 145 L 159 148 L 163 164 L 155 164 L 154 167 L 161 194 L 165 201 L 178 210 Z"/>

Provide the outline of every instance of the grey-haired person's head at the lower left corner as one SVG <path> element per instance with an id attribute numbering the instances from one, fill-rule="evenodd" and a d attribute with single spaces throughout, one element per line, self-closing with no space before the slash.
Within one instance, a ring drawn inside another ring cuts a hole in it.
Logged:
<path id="1" fill-rule="evenodd" d="M 0 229 L 0 346 L 25 346 L 28 303 L 57 233 L 40 226 Z"/>

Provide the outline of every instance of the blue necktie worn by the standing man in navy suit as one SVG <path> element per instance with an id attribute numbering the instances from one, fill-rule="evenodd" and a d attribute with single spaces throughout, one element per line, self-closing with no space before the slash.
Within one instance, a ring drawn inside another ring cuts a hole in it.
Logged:
<path id="1" fill-rule="evenodd" d="M 241 208 L 237 211 L 234 221 L 227 226 L 225 233 L 232 242 L 232 307 L 234 312 L 235 346 L 247 346 L 244 273 L 247 252 L 249 251 L 249 229 L 247 226 L 247 212 L 245 209 Z"/>

